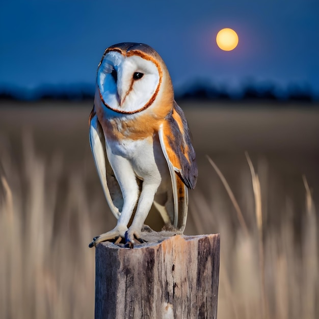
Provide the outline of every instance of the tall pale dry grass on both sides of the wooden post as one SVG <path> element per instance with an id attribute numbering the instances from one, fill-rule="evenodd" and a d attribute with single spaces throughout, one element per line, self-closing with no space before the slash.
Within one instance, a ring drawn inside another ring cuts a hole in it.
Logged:
<path id="1" fill-rule="evenodd" d="M 11 187 L 1 176 L 0 317 L 92 317 L 94 250 L 87 244 L 98 221 L 90 219 L 92 203 L 86 196 L 85 178 L 81 171 L 69 172 L 65 204 L 60 216 L 55 216 L 63 162 L 57 157 L 45 163 L 35 154 L 30 138 L 24 145 L 24 171 L 18 174 L 4 156 Z M 250 196 L 256 200 L 256 223 L 251 229 L 231 229 L 216 206 L 221 203 L 198 196 L 193 202 L 197 221 L 205 221 L 195 225 L 197 232 L 208 232 L 214 223 L 222 236 L 219 318 L 316 318 L 319 260 L 308 183 L 304 177 L 306 201 L 299 246 L 290 214 L 279 231 L 264 229 L 260 183 L 250 159 L 249 165 L 254 185 Z M 23 183 L 27 185 L 24 191 Z M 286 209 L 293 210 L 292 205 L 287 199 Z"/>

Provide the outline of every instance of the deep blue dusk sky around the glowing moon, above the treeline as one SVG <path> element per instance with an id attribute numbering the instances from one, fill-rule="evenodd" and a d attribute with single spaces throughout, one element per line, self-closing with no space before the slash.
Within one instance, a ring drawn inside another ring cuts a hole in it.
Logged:
<path id="1" fill-rule="evenodd" d="M 159 52 L 177 90 L 269 82 L 319 98 L 317 0 L 17 0 L 1 3 L 0 28 L 0 89 L 94 85 L 104 49 L 129 41 Z M 216 45 L 222 28 L 238 33 L 233 51 Z"/>

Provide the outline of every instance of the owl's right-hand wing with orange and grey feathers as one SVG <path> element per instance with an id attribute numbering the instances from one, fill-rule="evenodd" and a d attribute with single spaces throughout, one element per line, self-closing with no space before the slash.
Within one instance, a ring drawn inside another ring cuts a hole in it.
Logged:
<path id="1" fill-rule="evenodd" d="M 174 226 L 184 231 L 188 211 L 188 188 L 195 188 L 198 172 L 188 123 L 175 101 L 172 112 L 158 131 L 158 136 L 172 179 Z"/>

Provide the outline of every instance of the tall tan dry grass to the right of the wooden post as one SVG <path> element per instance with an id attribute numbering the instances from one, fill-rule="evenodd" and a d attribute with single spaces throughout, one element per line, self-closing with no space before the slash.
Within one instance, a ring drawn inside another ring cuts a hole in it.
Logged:
<path id="1" fill-rule="evenodd" d="M 262 217 L 262 198 L 258 174 L 246 153 L 251 171 L 255 201 L 255 223 L 247 231 L 246 223 L 233 231 L 220 214 L 216 203 L 196 198 L 200 219 L 205 219 L 201 231 L 218 223 L 221 233 L 221 270 L 219 318 L 317 318 L 319 297 L 317 221 L 311 191 L 305 176 L 305 209 L 302 225 L 294 226 L 296 214 L 293 201 L 286 199 L 286 211 L 279 230 L 265 227 Z M 238 215 L 237 201 L 216 164 L 209 162 L 221 178 Z M 218 195 L 217 195 L 218 197 Z M 202 202 L 206 201 L 205 205 Z M 200 207 L 205 207 L 201 209 Z M 210 212 L 214 218 L 207 219 Z M 238 221 L 241 221 L 238 217 Z M 236 218 L 233 216 L 233 218 Z M 208 222 L 208 224 L 207 224 Z M 243 226 L 244 225 L 244 226 Z"/>

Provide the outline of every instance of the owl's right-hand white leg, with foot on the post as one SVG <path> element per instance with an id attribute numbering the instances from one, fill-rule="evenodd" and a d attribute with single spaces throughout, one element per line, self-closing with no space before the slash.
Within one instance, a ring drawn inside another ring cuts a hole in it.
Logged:
<path id="1" fill-rule="evenodd" d="M 145 219 L 151 209 L 154 200 L 154 195 L 160 183 L 160 178 L 159 180 L 152 178 L 151 181 L 143 181 L 142 192 L 139 198 L 136 213 L 132 221 L 132 224 L 128 228 L 125 236 L 125 242 L 128 247 L 132 248 L 133 245 L 136 243 L 136 240 L 138 240 L 138 242 L 143 242 L 143 240 L 141 239 L 141 230 L 145 222 Z"/>

